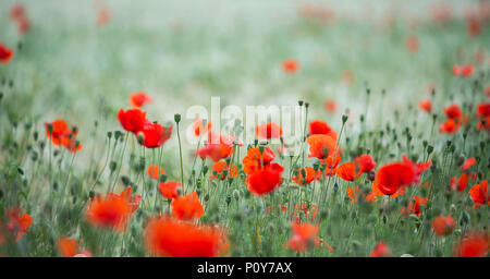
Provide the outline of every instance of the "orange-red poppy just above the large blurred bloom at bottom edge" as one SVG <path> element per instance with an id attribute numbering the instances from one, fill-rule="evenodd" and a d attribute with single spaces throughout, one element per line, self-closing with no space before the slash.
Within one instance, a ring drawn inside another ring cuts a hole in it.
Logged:
<path id="1" fill-rule="evenodd" d="M 204 208 L 196 192 L 172 201 L 172 216 L 179 220 L 199 219 L 203 215 Z"/>

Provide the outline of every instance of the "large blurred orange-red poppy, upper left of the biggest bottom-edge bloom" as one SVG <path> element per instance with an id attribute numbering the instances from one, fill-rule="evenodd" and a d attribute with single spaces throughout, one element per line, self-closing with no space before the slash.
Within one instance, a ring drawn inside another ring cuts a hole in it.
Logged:
<path id="1" fill-rule="evenodd" d="M 88 204 L 85 214 L 87 221 L 93 226 L 101 228 L 111 228 L 117 232 L 124 232 L 133 206 L 127 199 L 120 198 L 115 195 L 96 196 Z"/>

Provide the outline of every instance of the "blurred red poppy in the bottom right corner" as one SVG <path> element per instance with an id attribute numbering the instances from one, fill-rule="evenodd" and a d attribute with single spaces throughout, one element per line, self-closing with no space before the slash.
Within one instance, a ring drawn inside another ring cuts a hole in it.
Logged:
<path id="1" fill-rule="evenodd" d="M 487 233 L 470 232 L 456 245 L 454 256 L 456 257 L 485 257 L 490 245 L 490 238 Z"/>

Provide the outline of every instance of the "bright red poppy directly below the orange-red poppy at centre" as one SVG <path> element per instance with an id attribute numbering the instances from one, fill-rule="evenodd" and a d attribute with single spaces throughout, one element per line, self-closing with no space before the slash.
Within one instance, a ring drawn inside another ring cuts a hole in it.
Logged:
<path id="1" fill-rule="evenodd" d="M 274 191 L 281 183 L 282 170 L 279 171 L 277 168 L 270 166 L 254 171 L 246 179 L 248 191 L 255 195 L 268 194 Z"/>

